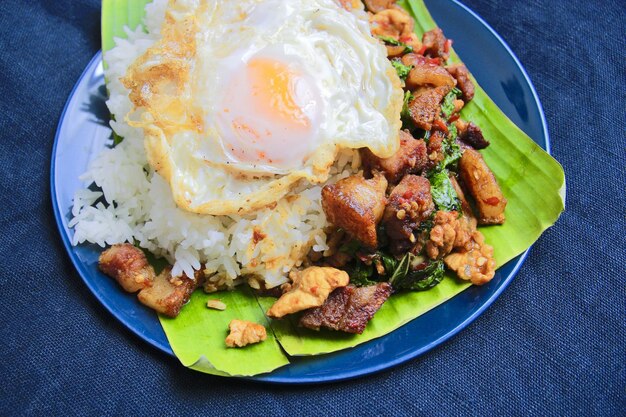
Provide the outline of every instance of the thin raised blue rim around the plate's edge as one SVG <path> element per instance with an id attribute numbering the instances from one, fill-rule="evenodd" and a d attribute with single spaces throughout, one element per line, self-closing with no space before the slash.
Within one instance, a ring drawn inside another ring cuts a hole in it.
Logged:
<path id="1" fill-rule="evenodd" d="M 489 33 L 491 34 L 491 36 L 493 36 L 498 41 L 498 43 L 502 47 L 504 47 L 504 49 L 506 50 L 506 52 L 509 55 L 509 57 L 512 58 L 515 66 L 521 72 L 521 74 L 523 76 L 523 79 L 524 79 L 526 85 L 528 86 L 528 88 L 529 88 L 529 90 L 531 92 L 532 101 L 536 105 L 536 108 L 537 108 L 537 111 L 538 111 L 538 114 L 539 114 L 539 119 L 540 119 L 540 122 L 541 122 L 543 137 L 545 138 L 545 148 L 544 148 L 544 150 L 548 154 L 551 155 L 550 134 L 549 134 L 548 123 L 547 123 L 547 120 L 546 120 L 545 112 L 543 110 L 543 106 L 541 104 L 541 101 L 539 100 L 539 96 L 537 94 L 537 91 L 535 89 L 534 84 L 532 83 L 532 81 L 530 79 L 530 76 L 528 75 L 525 67 L 522 65 L 522 63 L 519 60 L 519 58 L 517 57 L 517 55 L 513 52 L 513 50 L 508 45 L 508 43 L 502 38 L 502 36 L 500 36 L 491 27 L 491 25 L 489 25 L 480 15 L 478 15 L 476 12 L 474 12 L 472 9 L 470 9 L 468 6 L 464 5 L 463 3 L 461 3 L 458 0 L 448 0 L 448 1 L 450 1 L 451 4 L 456 5 L 456 6 L 460 7 L 460 8 L 462 8 L 465 13 L 469 14 L 473 19 L 478 21 L 478 23 L 483 28 L 487 29 L 489 31 Z M 103 306 L 110 314 L 113 315 L 113 317 L 115 317 L 116 320 L 118 320 L 120 322 L 120 324 L 123 325 L 123 327 L 125 327 L 127 330 L 130 330 L 131 333 L 133 333 L 135 336 L 139 337 L 144 342 L 147 342 L 149 345 L 151 345 L 152 347 L 156 348 L 157 350 L 167 354 L 170 357 L 174 357 L 175 358 L 175 354 L 172 351 L 172 348 L 169 345 L 169 342 L 166 345 L 164 345 L 162 343 L 159 343 L 157 340 L 155 340 L 153 338 L 147 337 L 146 335 L 141 333 L 138 329 L 132 327 L 130 325 L 130 323 L 128 323 L 127 320 L 124 317 L 122 317 L 122 315 L 119 312 L 117 312 L 117 310 L 113 309 L 108 303 L 105 302 L 103 296 L 96 290 L 96 288 L 90 283 L 90 281 L 88 279 L 86 279 L 86 275 L 87 274 L 86 274 L 86 271 L 84 270 L 84 266 L 83 266 L 82 262 L 80 262 L 80 260 L 76 256 L 76 254 L 73 253 L 73 246 L 72 246 L 72 243 L 70 241 L 70 237 L 65 232 L 64 222 L 63 222 L 62 214 L 61 214 L 61 211 L 60 211 L 60 208 L 59 208 L 59 202 L 57 201 L 58 194 L 57 194 L 56 175 L 55 175 L 55 173 L 56 173 L 57 148 L 58 148 L 58 144 L 59 144 L 59 136 L 60 136 L 60 133 L 61 133 L 61 128 L 62 128 L 63 123 L 65 121 L 66 114 L 68 112 L 68 109 L 69 109 L 69 106 L 70 106 L 70 104 L 72 102 L 72 99 L 74 98 L 76 90 L 81 85 L 83 79 L 91 71 L 92 67 L 94 65 L 97 65 L 97 63 L 99 63 L 101 61 L 102 61 L 102 51 L 99 50 L 90 59 L 89 63 L 85 66 L 85 69 L 82 71 L 80 77 L 78 78 L 78 80 L 74 84 L 74 86 L 73 86 L 73 88 L 72 88 L 72 90 L 71 90 L 70 94 L 68 95 L 68 98 L 67 98 L 67 100 L 65 102 L 65 105 L 63 107 L 63 111 L 61 112 L 61 115 L 59 117 L 59 122 L 57 124 L 56 132 L 55 132 L 55 135 L 54 135 L 54 143 L 53 143 L 53 146 L 52 146 L 51 163 L 50 163 L 50 195 L 51 195 L 51 200 L 52 200 L 52 208 L 53 208 L 53 213 L 54 213 L 54 217 L 55 217 L 55 222 L 56 222 L 59 234 L 61 235 L 61 239 L 63 241 L 63 245 L 65 247 L 66 253 L 67 253 L 67 255 L 69 255 L 69 258 L 72 261 L 72 264 L 73 264 L 74 268 L 78 272 L 78 275 L 80 276 L 80 278 L 83 281 L 83 283 L 85 283 L 85 285 L 87 286 L 89 291 L 92 293 L 93 296 L 95 296 L 95 298 L 98 300 L 100 305 Z M 435 347 L 441 345 L 442 343 L 446 342 L 450 338 L 454 337 L 461 330 L 465 329 L 474 320 L 476 320 L 478 318 L 478 316 L 480 316 L 487 308 L 489 308 L 495 302 L 495 300 L 500 297 L 502 292 L 509 286 L 511 281 L 518 274 L 521 266 L 526 261 L 528 255 L 529 255 L 529 253 L 531 251 L 531 249 L 532 249 L 532 245 L 526 251 L 524 251 L 522 254 L 520 254 L 516 258 L 514 258 L 516 263 L 515 263 L 513 269 L 511 270 L 511 272 L 509 273 L 509 275 L 502 281 L 502 283 L 496 289 L 496 291 L 494 291 L 494 293 L 484 303 L 482 303 L 482 305 L 475 312 L 473 312 L 465 320 L 463 320 L 462 322 L 457 324 L 455 327 L 453 327 L 452 329 L 447 331 L 445 334 L 443 334 L 439 338 L 430 341 L 429 343 L 427 343 L 426 345 L 422 346 L 419 349 L 413 350 L 411 352 L 408 352 L 408 353 L 403 354 L 401 356 L 395 357 L 394 359 L 385 361 L 383 363 L 374 364 L 372 366 L 365 366 L 365 367 L 359 368 L 358 370 L 355 370 L 355 371 L 344 371 L 340 375 L 331 375 L 331 376 L 313 377 L 313 378 L 308 377 L 307 378 L 307 377 L 294 377 L 294 376 L 276 376 L 276 375 L 272 375 L 272 373 L 270 372 L 268 374 L 262 374 L 262 375 L 257 375 L 257 376 L 253 376 L 253 377 L 237 377 L 237 378 L 238 379 L 248 380 L 248 381 L 254 381 L 254 382 L 258 382 L 258 383 L 271 383 L 271 384 L 279 384 L 279 385 L 282 385 L 282 384 L 320 384 L 320 383 L 339 382 L 339 381 L 350 380 L 350 379 L 354 379 L 354 378 L 357 378 L 357 377 L 371 375 L 371 374 L 375 374 L 375 373 L 381 372 L 383 370 L 388 370 L 388 369 L 394 368 L 394 367 L 396 367 L 396 366 L 398 366 L 398 365 L 400 365 L 402 363 L 405 363 L 405 362 L 407 362 L 407 361 L 409 361 L 411 359 L 414 359 L 414 358 L 416 358 L 416 357 L 418 357 L 418 356 L 420 356 L 420 355 L 422 355 L 422 354 L 424 354 L 424 353 L 434 349 Z M 435 307 L 435 308 L 437 308 L 437 307 Z M 156 316 L 155 316 L 155 320 L 158 320 L 158 318 Z M 382 338 L 384 338 L 384 337 L 385 336 L 382 336 Z M 166 336 L 166 340 L 167 340 L 167 336 Z M 366 343 L 370 343 L 370 342 L 373 342 L 375 340 L 377 340 L 377 339 L 368 341 Z M 320 356 L 323 356 L 323 355 L 320 355 Z M 287 366 L 289 366 L 289 365 L 287 365 Z"/>

